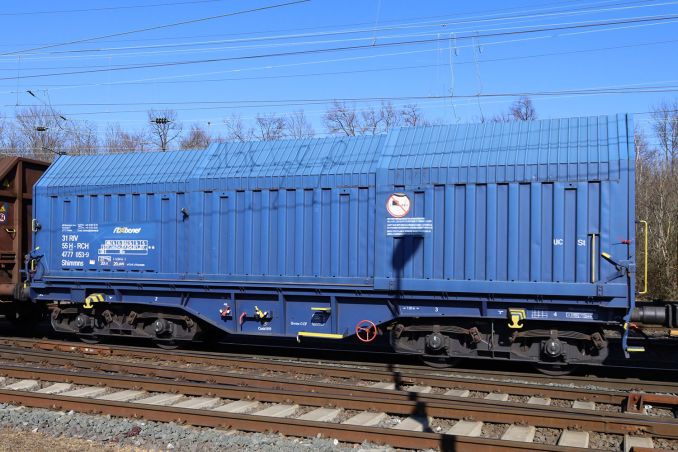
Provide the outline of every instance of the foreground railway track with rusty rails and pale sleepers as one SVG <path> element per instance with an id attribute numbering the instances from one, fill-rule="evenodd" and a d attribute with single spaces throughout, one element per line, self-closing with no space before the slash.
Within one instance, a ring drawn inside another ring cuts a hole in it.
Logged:
<path id="1" fill-rule="evenodd" d="M 492 438 L 482 435 L 491 436 L 491 432 L 496 434 L 498 430 L 502 430 L 502 447 L 522 449 L 543 450 L 548 446 L 544 443 L 528 446 L 538 429 L 558 430 L 559 437 L 565 431 L 575 432 L 579 428 L 589 436 L 621 438 L 644 434 L 646 438 L 678 439 L 678 424 L 674 420 L 499 403 L 488 409 L 487 405 L 477 403 L 431 400 L 413 397 L 411 393 L 398 396 L 397 391 L 387 390 L 373 390 L 370 394 L 320 394 L 288 388 L 235 387 L 7 365 L 0 367 L 0 373 L 6 378 L 6 385 L 0 389 L 0 402 L 4 403 L 244 431 L 321 434 L 341 441 L 367 440 L 403 448 L 445 448 L 450 441 L 459 448 L 462 447 L 459 437 L 463 436 L 463 444 L 468 443 L 468 450 L 474 450 L 476 446 L 494 445 L 488 442 Z M 342 413 L 348 413 L 343 421 L 333 422 L 341 419 Z M 283 416 L 293 417 L 282 419 Z M 516 419 L 522 423 L 516 424 Z M 442 426 L 448 427 L 448 433 L 460 434 L 446 434 Z M 466 446 L 457 450 L 466 450 Z"/>

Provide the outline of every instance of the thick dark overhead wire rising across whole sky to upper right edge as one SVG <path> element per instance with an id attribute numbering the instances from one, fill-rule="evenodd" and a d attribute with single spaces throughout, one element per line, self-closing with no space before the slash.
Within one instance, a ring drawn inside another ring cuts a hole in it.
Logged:
<path id="1" fill-rule="evenodd" d="M 309 0 L 300 0 L 300 1 L 309 1 Z M 506 32 L 494 32 L 486 33 L 483 35 L 475 35 L 479 38 L 486 37 L 496 37 L 496 36 L 515 36 L 515 35 L 524 35 L 531 33 L 539 33 L 545 31 L 561 31 L 561 30 L 571 30 L 571 29 L 588 29 L 592 27 L 604 27 L 610 25 L 623 25 L 623 24 L 638 24 L 638 23 L 667 23 L 667 21 L 675 21 L 678 19 L 678 15 L 670 16 L 655 16 L 651 18 L 639 18 L 639 19 L 622 19 L 622 20 L 611 20 L 597 23 L 588 23 L 588 24 L 579 24 L 579 25 L 565 25 L 565 26 L 556 26 L 556 27 L 543 27 L 543 28 L 533 28 L 529 30 L 514 30 Z M 460 36 L 457 39 L 471 39 L 474 35 Z M 365 44 L 365 45 L 355 45 L 355 46 L 343 46 L 343 47 L 332 47 L 324 49 L 307 49 L 307 50 L 298 50 L 292 52 L 277 52 L 277 53 L 268 53 L 268 54 L 256 54 L 256 55 L 241 55 L 234 57 L 224 57 L 224 58 L 209 58 L 201 60 L 184 60 L 184 61 L 172 61 L 172 62 L 163 62 L 163 63 L 149 63 L 142 65 L 129 65 L 124 67 L 115 67 L 115 68 L 106 68 L 106 69 L 91 69 L 83 71 L 70 71 L 70 72 L 56 72 L 49 74 L 30 74 L 25 75 L 22 78 L 42 78 L 42 77 L 54 77 L 54 76 L 64 76 L 64 75 L 80 75 L 80 74 L 91 74 L 91 73 L 100 73 L 100 72 L 114 72 L 114 71 L 123 71 L 123 70 L 134 70 L 134 69 L 149 69 L 149 68 L 158 68 L 158 67 L 170 67 L 170 66 L 183 66 L 183 65 L 192 65 L 192 64 L 204 64 L 204 63 L 215 63 L 223 61 L 242 61 L 242 60 L 254 60 L 261 58 L 272 58 L 272 57 L 287 57 L 287 56 L 300 56 L 300 55 L 311 55 L 311 54 L 322 54 L 330 52 L 342 52 L 342 51 L 351 51 L 351 50 L 365 50 L 373 49 L 377 47 L 394 47 L 394 46 L 407 46 L 407 45 L 419 45 L 434 43 L 438 41 L 447 41 L 448 38 L 430 38 L 430 39 L 420 39 L 420 40 L 409 40 L 409 41 L 396 41 L 396 42 L 387 42 L 387 43 L 377 43 L 374 45 Z M 0 80 L 14 80 L 16 77 L 2 77 Z"/>

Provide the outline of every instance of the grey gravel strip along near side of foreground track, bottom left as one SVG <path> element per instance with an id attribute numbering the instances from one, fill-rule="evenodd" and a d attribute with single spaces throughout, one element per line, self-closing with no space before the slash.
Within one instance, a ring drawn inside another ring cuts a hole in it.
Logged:
<path id="1" fill-rule="evenodd" d="M 293 438 L 278 434 L 186 427 L 175 423 L 113 418 L 73 411 L 50 411 L 7 404 L 0 404 L 0 429 L 7 432 L 36 434 L 38 437 L 42 435 L 41 438 L 47 440 L 58 439 L 60 444 L 53 447 L 39 447 L 36 444 L 36 447 L 29 449 L 15 447 L 4 450 L 94 450 L 94 448 L 85 447 L 88 444 L 100 446 L 98 450 L 115 451 L 135 449 L 181 451 L 250 449 L 275 450 L 276 452 L 354 450 L 353 444 L 340 443 L 331 438 Z M 63 444 L 61 444 L 62 440 Z M 68 443 L 68 441 L 76 441 L 76 443 Z M 1 446 L 3 443 L 5 442 L 0 442 L 0 450 L 3 450 Z M 78 444 L 82 447 L 78 447 Z M 369 448 L 374 445 L 363 444 L 362 447 Z"/>

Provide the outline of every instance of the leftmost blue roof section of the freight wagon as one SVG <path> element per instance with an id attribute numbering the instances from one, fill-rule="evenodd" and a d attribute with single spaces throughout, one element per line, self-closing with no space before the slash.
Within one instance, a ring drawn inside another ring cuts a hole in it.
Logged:
<path id="1" fill-rule="evenodd" d="M 205 157 L 204 151 L 62 156 L 36 188 L 50 193 L 96 193 L 111 187 L 137 192 L 177 191 L 181 190 L 177 184 L 185 184 Z"/>

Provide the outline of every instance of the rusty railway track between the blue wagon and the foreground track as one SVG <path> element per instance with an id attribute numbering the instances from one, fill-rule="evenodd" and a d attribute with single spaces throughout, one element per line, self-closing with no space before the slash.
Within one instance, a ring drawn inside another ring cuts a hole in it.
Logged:
<path id="1" fill-rule="evenodd" d="M 566 377 L 535 377 L 530 375 L 528 378 L 511 375 L 506 378 L 496 372 L 494 374 L 485 373 L 482 376 L 469 378 L 467 375 L 458 375 L 455 371 L 450 372 L 431 372 L 413 366 L 398 365 L 366 365 L 364 363 L 337 363 L 324 362 L 321 364 L 309 361 L 287 361 L 277 359 L 252 359 L 244 358 L 238 355 L 222 356 L 211 353 L 186 353 L 186 352 L 158 352 L 157 350 L 148 350 L 138 347 L 107 347 L 107 346 L 83 346 L 80 343 L 63 343 L 59 341 L 30 341 L 30 340 L 3 340 L 6 344 L 21 346 L 24 348 L 38 349 L 44 351 L 65 351 L 68 353 L 80 353 L 88 355 L 105 355 L 112 358 L 134 358 L 147 362 L 153 366 L 160 364 L 162 367 L 157 369 L 148 369 L 140 365 L 129 367 L 127 371 L 139 374 L 151 373 L 157 376 L 172 378 L 178 376 L 182 379 L 197 379 L 198 381 L 214 381 L 221 384 L 242 384 L 242 374 L 248 375 L 249 385 L 261 387 L 274 387 L 278 384 L 280 376 L 287 375 L 288 378 L 299 380 L 308 379 L 315 381 L 319 386 L 301 387 L 300 389 L 309 389 L 321 391 L 321 383 L 332 385 L 343 384 L 351 387 L 371 386 L 379 389 L 406 390 L 420 394 L 445 395 L 458 398 L 484 398 L 492 401 L 513 401 L 526 403 L 542 403 L 550 405 L 552 399 L 562 402 L 570 402 L 572 407 L 595 409 L 596 403 L 607 404 L 603 408 L 607 411 L 626 411 L 643 412 L 647 408 L 645 402 L 651 402 L 656 406 L 666 406 L 674 408 L 678 404 L 678 399 L 670 395 L 655 394 L 673 394 L 678 392 L 678 384 L 672 382 L 639 382 L 619 381 L 612 379 L 591 378 L 566 378 Z M 6 349 L 5 353 L 9 359 L 16 357 L 12 349 Z M 21 353 L 20 359 L 40 360 L 44 355 L 39 352 L 37 355 L 27 355 Z M 57 361 L 58 356 L 51 355 L 50 360 Z M 61 362 L 63 362 L 63 358 Z M 88 368 L 95 365 L 93 361 L 82 359 L 72 361 L 68 359 L 69 365 Z M 129 361 L 125 361 L 129 363 Z M 183 364 L 187 367 L 178 367 Z M 96 364 L 100 366 L 100 364 Z M 202 367 L 202 370 L 196 375 L 195 366 Z M 163 367 L 165 369 L 163 369 Z M 168 367 L 171 368 L 168 372 Z M 106 369 L 117 371 L 118 367 L 114 362 L 109 363 Z M 177 373 L 177 371 L 181 371 Z M 258 372 L 258 374 L 252 374 Z M 235 374 L 235 375 L 233 375 Z M 277 374 L 277 375 L 276 375 Z M 520 378 L 520 380 L 517 380 Z M 295 381 L 295 385 L 301 385 Z M 592 389 L 597 388 L 597 389 Z M 320 389 L 319 389 L 320 388 Z M 535 397 L 540 396 L 540 397 Z M 600 409 L 601 407 L 597 407 Z M 654 413 L 657 414 L 657 413 Z M 672 415 L 673 413 L 669 413 Z"/>

